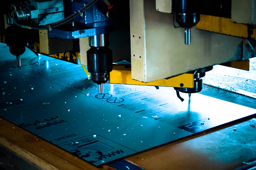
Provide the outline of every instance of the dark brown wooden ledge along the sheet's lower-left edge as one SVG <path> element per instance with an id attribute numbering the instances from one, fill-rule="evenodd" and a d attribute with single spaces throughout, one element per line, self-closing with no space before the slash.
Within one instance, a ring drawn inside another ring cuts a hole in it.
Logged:
<path id="1" fill-rule="evenodd" d="M 42 170 L 99 170 L 3 118 L 0 118 L 0 145 Z"/>

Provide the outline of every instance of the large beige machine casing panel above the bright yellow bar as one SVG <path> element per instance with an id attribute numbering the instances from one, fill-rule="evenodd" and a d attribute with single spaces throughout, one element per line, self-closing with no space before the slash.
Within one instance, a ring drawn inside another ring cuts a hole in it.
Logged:
<path id="1" fill-rule="evenodd" d="M 130 0 L 133 79 L 151 82 L 242 59 L 238 37 L 193 27 L 186 45 L 184 29 L 175 28 L 173 15 L 157 12 L 155 0 Z"/>

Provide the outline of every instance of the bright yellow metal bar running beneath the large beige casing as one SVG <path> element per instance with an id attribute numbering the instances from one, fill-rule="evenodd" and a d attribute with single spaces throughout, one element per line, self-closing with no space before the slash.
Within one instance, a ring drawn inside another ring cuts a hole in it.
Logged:
<path id="1" fill-rule="evenodd" d="M 185 73 L 169 79 L 161 79 L 149 83 L 143 83 L 131 78 L 131 68 L 125 68 L 125 66 L 121 64 L 114 64 L 113 71 L 110 72 L 110 83 L 193 88 L 194 74 Z"/>

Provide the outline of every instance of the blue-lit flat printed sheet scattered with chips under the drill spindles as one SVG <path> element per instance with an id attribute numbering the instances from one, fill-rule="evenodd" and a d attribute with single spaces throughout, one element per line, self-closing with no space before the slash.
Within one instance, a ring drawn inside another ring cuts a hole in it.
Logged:
<path id="1" fill-rule="evenodd" d="M 181 102 L 169 87 L 105 84 L 99 95 L 79 65 L 42 55 L 22 63 L 0 62 L 0 116 L 94 165 L 256 112 L 200 94 Z"/>

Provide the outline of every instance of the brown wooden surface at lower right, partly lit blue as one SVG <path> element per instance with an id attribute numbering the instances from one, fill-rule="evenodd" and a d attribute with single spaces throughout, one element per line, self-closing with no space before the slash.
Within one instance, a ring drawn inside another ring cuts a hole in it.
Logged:
<path id="1" fill-rule="evenodd" d="M 183 138 L 126 160 L 145 170 L 233 170 L 243 166 L 243 162 L 256 160 L 256 127 L 251 126 L 256 122 L 240 122 Z"/>

